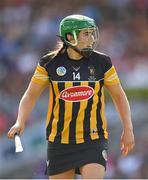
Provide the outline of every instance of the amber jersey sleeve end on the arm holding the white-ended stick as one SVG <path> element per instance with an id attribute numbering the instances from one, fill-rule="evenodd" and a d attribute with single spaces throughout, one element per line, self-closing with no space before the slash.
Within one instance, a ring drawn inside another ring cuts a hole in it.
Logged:
<path id="1" fill-rule="evenodd" d="M 47 86 L 49 77 L 46 69 L 38 64 L 31 80 L 39 85 Z"/>

